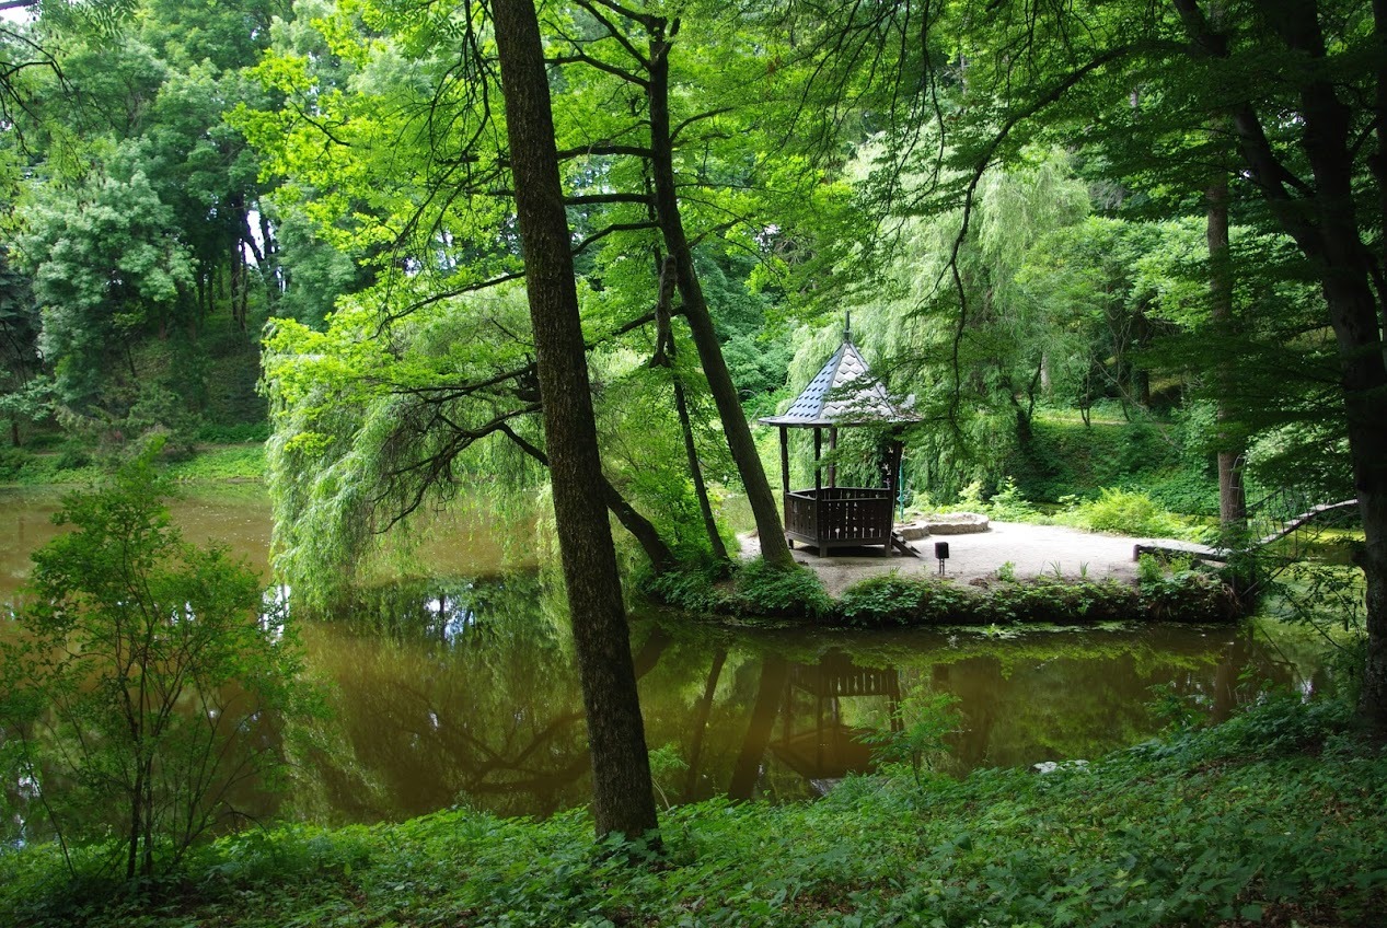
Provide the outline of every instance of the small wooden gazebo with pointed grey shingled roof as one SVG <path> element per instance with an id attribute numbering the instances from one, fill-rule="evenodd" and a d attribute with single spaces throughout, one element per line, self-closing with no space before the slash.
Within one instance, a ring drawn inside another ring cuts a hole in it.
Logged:
<path id="1" fill-rule="evenodd" d="M 890 401 L 886 388 L 872 377 L 867 362 L 853 345 L 852 329 L 843 330 L 843 344 L 828 359 L 789 409 L 778 416 L 761 419 L 764 424 L 779 426 L 781 433 L 781 488 L 785 495 L 785 538 L 814 545 L 820 555 L 832 548 L 884 545 L 890 553 L 895 545 L 902 553 L 915 552 L 892 533 L 896 508 L 896 476 L 900 470 L 902 444 L 892 437 L 882 463 L 882 487 L 839 487 L 838 466 L 829 463 L 828 486 L 820 465 L 824 451 L 824 429 L 828 429 L 828 448 L 838 448 L 839 426 L 890 424 L 913 422 L 914 418 Z M 789 488 L 789 430 L 814 430 L 814 488 Z"/>

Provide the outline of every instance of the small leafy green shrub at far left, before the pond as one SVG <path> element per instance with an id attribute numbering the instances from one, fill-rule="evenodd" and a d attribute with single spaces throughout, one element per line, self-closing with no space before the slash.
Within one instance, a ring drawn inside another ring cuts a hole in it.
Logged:
<path id="1" fill-rule="evenodd" d="M 7 775 L 32 782 L 22 820 L 47 818 L 65 854 L 100 843 L 126 878 L 232 824 L 311 705 L 255 574 L 171 526 L 155 451 L 64 499 L 74 530 L 35 552 L 3 642 Z"/>

